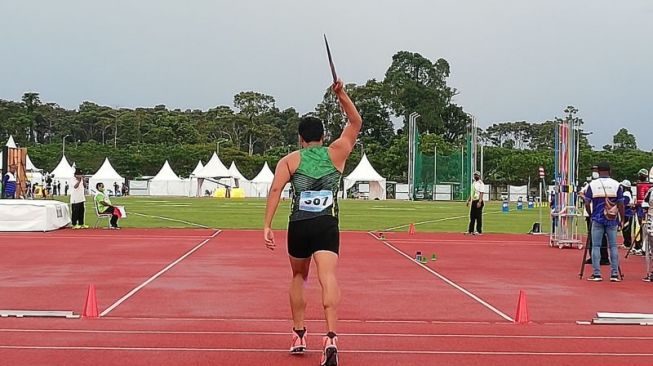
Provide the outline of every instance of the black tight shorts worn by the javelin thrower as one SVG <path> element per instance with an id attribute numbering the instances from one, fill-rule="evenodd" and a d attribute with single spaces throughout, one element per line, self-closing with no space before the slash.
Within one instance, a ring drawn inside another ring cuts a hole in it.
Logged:
<path id="1" fill-rule="evenodd" d="M 288 254 L 291 257 L 310 258 L 320 250 L 338 254 L 340 229 L 337 218 L 325 215 L 288 223 Z"/>

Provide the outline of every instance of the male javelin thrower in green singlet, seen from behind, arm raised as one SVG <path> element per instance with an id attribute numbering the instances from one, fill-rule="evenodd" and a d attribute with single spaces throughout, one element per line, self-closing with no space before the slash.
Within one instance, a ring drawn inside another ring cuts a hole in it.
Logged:
<path id="1" fill-rule="evenodd" d="M 356 144 L 362 119 L 343 88 L 342 80 L 332 86 L 348 123 L 342 135 L 329 147 L 324 146 L 324 126 L 315 117 L 304 117 L 299 123 L 302 149 L 286 155 L 277 164 L 265 209 L 263 237 L 274 250 L 276 243 L 271 229 L 272 219 L 286 183 L 292 185 L 292 206 L 288 223 L 288 255 L 292 268 L 290 308 L 293 317 L 291 354 L 306 350 L 304 283 L 308 279 L 311 258 L 315 260 L 322 286 L 322 304 L 327 323 L 323 339 L 321 366 L 338 365 L 336 337 L 337 307 L 340 289 L 336 279 L 340 233 L 338 229 L 337 194 L 345 162 Z"/>

